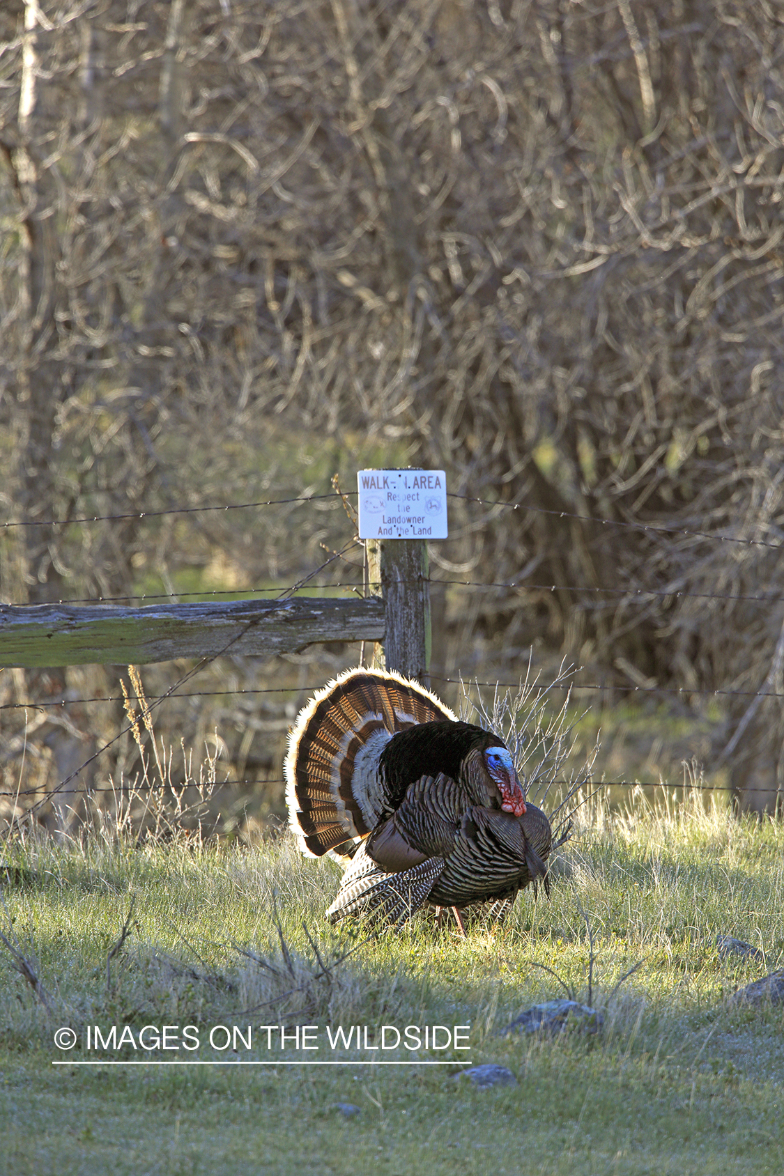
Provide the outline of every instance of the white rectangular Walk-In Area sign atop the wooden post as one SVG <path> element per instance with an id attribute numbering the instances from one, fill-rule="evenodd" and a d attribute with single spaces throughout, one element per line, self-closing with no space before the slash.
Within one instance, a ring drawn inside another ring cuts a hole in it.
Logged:
<path id="1" fill-rule="evenodd" d="M 360 469 L 360 539 L 446 539 L 443 469 Z"/>

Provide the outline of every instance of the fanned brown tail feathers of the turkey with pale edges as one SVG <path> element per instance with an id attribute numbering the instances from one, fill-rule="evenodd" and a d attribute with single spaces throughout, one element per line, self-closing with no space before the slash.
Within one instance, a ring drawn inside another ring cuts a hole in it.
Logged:
<path id="1" fill-rule="evenodd" d="M 284 763 L 288 821 L 308 857 L 351 857 L 384 809 L 378 761 L 396 731 L 456 715 L 418 682 L 351 669 L 300 710 Z"/>

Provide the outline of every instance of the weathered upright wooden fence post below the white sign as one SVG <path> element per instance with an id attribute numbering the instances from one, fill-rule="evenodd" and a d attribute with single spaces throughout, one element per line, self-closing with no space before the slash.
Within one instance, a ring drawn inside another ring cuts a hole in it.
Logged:
<path id="1" fill-rule="evenodd" d="M 384 599 L 384 643 L 373 648 L 373 666 L 394 669 L 430 686 L 430 572 L 421 539 L 368 539 L 370 593 Z"/>

